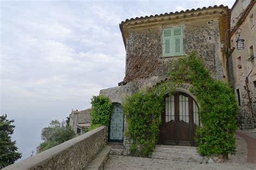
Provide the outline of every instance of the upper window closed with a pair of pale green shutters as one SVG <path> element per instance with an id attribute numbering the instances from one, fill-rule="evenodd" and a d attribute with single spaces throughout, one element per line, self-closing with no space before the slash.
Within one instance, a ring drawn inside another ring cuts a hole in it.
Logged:
<path id="1" fill-rule="evenodd" d="M 182 27 L 164 29 L 163 56 L 179 56 L 179 55 L 184 55 Z"/>

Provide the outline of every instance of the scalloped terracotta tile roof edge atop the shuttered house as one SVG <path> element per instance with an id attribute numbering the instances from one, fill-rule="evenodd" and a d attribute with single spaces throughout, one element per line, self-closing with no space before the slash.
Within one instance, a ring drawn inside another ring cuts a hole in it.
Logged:
<path id="1" fill-rule="evenodd" d="M 172 16 L 172 15 L 180 15 L 180 14 L 184 14 L 183 17 L 186 17 L 186 15 L 188 13 L 190 13 L 191 16 L 193 16 L 193 13 L 194 12 L 199 12 L 199 11 L 204 11 L 204 10 L 207 10 L 207 9 L 219 9 L 219 8 L 224 8 L 226 10 L 230 10 L 228 8 L 228 6 L 224 6 L 224 5 L 214 5 L 214 6 L 208 6 L 208 7 L 203 7 L 203 8 L 197 8 L 197 9 L 187 9 L 185 11 L 181 10 L 181 11 L 176 11 L 176 12 L 170 12 L 170 13 L 160 13 L 160 15 L 151 15 L 151 16 L 145 16 L 145 17 L 136 17 L 136 18 L 130 18 L 130 19 L 126 19 L 125 21 L 122 21 L 120 24 L 119 24 L 119 27 L 120 27 L 120 31 L 122 33 L 122 37 L 123 37 L 123 41 L 124 41 L 124 45 L 125 45 L 125 48 L 126 48 L 126 41 L 125 41 L 125 34 L 124 34 L 124 24 L 126 23 L 129 23 L 129 22 L 134 22 L 134 24 L 140 24 L 140 23 L 145 23 L 145 22 L 157 22 L 158 19 L 153 19 L 153 18 L 157 18 L 157 17 L 161 17 L 161 16 Z M 198 16 L 199 15 L 202 15 L 201 12 L 198 13 Z M 146 19 L 146 20 L 145 20 Z"/>

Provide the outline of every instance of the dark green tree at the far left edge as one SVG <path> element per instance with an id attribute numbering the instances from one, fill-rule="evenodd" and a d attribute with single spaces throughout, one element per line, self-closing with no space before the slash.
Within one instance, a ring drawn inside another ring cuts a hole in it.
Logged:
<path id="1" fill-rule="evenodd" d="M 14 133 L 14 120 L 8 120 L 7 115 L 0 116 L 0 168 L 14 164 L 16 160 L 22 157 L 17 152 L 16 141 L 11 141 L 11 134 Z"/>

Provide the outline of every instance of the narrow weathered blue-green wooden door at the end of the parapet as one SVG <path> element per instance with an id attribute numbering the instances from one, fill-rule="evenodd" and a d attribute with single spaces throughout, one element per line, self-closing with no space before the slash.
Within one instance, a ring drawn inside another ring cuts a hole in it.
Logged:
<path id="1" fill-rule="evenodd" d="M 120 103 L 113 103 L 113 109 L 109 125 L 109 138 L 111 142 L 123 142 L 124 111 Z"/>

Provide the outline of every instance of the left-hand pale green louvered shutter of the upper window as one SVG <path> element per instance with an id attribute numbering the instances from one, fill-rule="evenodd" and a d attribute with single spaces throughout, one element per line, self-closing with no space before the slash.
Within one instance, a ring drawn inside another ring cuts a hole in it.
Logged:
<path id="1" fill-rule="evenodd" d="M 163 56 L 171 56 L 173 54 L 172 29 L 163 31 Z"/>

